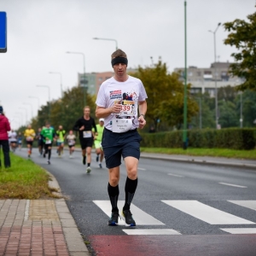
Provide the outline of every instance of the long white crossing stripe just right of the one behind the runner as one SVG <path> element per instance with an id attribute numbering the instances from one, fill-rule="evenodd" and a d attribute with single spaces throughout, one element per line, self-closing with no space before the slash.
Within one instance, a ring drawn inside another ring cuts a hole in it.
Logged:
<path id="1" fill-rule="evenodd" d="M 199 201 L 162 200 L 162 202 L 171 207 L 177 208 L 182 212 L 186 212 L 195 218 L 199 218 L 208 224 L 254 224 L 245 218 L 240 218 L 230 213 L 209 207 Z"/>

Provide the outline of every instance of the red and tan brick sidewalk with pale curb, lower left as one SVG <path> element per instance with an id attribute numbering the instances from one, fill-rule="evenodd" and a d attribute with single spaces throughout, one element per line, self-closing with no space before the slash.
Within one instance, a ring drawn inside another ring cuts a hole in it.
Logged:
<path id="1" fill-rule="evenodd" d="M 51 176 L 50 187 L 59 189 Z M 0 200 L 0 255 L 88 256 L 64 199 Z"/>

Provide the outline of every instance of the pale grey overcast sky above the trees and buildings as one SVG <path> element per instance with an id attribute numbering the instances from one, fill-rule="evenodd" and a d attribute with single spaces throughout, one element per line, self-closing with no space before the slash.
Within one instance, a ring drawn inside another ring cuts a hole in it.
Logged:
<path id="1" fill-rule="evenodd" d="M 169 71 L 184 67 L 183 0 L 0 0 L 8 16 L 8 52 L 0 54 L 0 102 L 13 128 L 31 119 L 40 104 L 61 96 L 78 83 L 78 73 L 111 71 L 113 38 L 128 55 L 128 67 L 149 66 L 159 57 Z M 255 0 L 187 0 L 188 66 L 209 67 L 214 61 L 213 34 L 218 22 L 247 19 Z M 233 61 L 235 50 L 216 32 L 218 61 Z M 49 74 L 49 72 L 61 73 Z M 20 109 L 21 108 L 21 109 Z M 26 108 L 22 109 L 22 108 Z M 20 114 L 22 113 L 22 114 Z M 19 118 L 20 116 L 20 118 Z"/>

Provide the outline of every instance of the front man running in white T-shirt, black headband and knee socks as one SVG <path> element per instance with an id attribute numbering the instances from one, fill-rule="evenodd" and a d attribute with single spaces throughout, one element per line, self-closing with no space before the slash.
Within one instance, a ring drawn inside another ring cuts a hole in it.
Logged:
<path id="1" fill-rule="evenodd" d="M 137 189 L 137 166 L 140 158 L 141 136 L 137 128 L 146 125 L 148 97 L 140 79 L 126 73 L 128 64 L 124 51 L 117 49 L 111 55 L 114 76 L 102 83 L 96 98 L 96 117 L 104 118 L 102 148 L 108 167 L 108 195 L 112 206 L 108 225 L 118 224 L 119 166 L 125 160 L 125 206 L 121 217 L 125 224 L 135 226 L 131 214 L 131 201 Z"/>

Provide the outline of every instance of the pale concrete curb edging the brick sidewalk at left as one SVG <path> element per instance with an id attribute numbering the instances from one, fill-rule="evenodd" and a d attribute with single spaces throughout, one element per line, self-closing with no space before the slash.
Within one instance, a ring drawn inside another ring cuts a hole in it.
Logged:
<path id="1" fill-rule="evenodd" d="M 54 192 L 55 195 L 63 197 L 61 194 L 61 188 L 56 178 L 47 170 L 45 172 L 49 174 L 49 187 L 57 189 L 58 192 Z M 63 234 L 67 243 L 67 250 L 70 256 L 90 256 L 88 248 L 84 244 L 83 237 L 79 232 L 79 228 L 75 223 L 71 212 L 69 211 L 66 201 L 61 198 L 54 200 L 56 211 L 58 212 Z"/>

